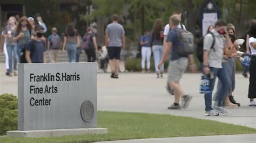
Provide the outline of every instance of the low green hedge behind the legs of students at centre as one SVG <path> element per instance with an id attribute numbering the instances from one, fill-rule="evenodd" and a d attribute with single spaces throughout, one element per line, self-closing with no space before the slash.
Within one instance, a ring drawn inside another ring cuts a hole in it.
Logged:
<path id="1" fill-rule="evenodd" d="M 166 70 L 169 65 L 168 61 L 164 62 L 164 69 Z M 128 71 L 142 71 L 142 59 L 126 59 L 125 60 L 125 69 Z M 150 60 L 150 70 L 154 71 L 154 59 L 151 58 Z"/>

